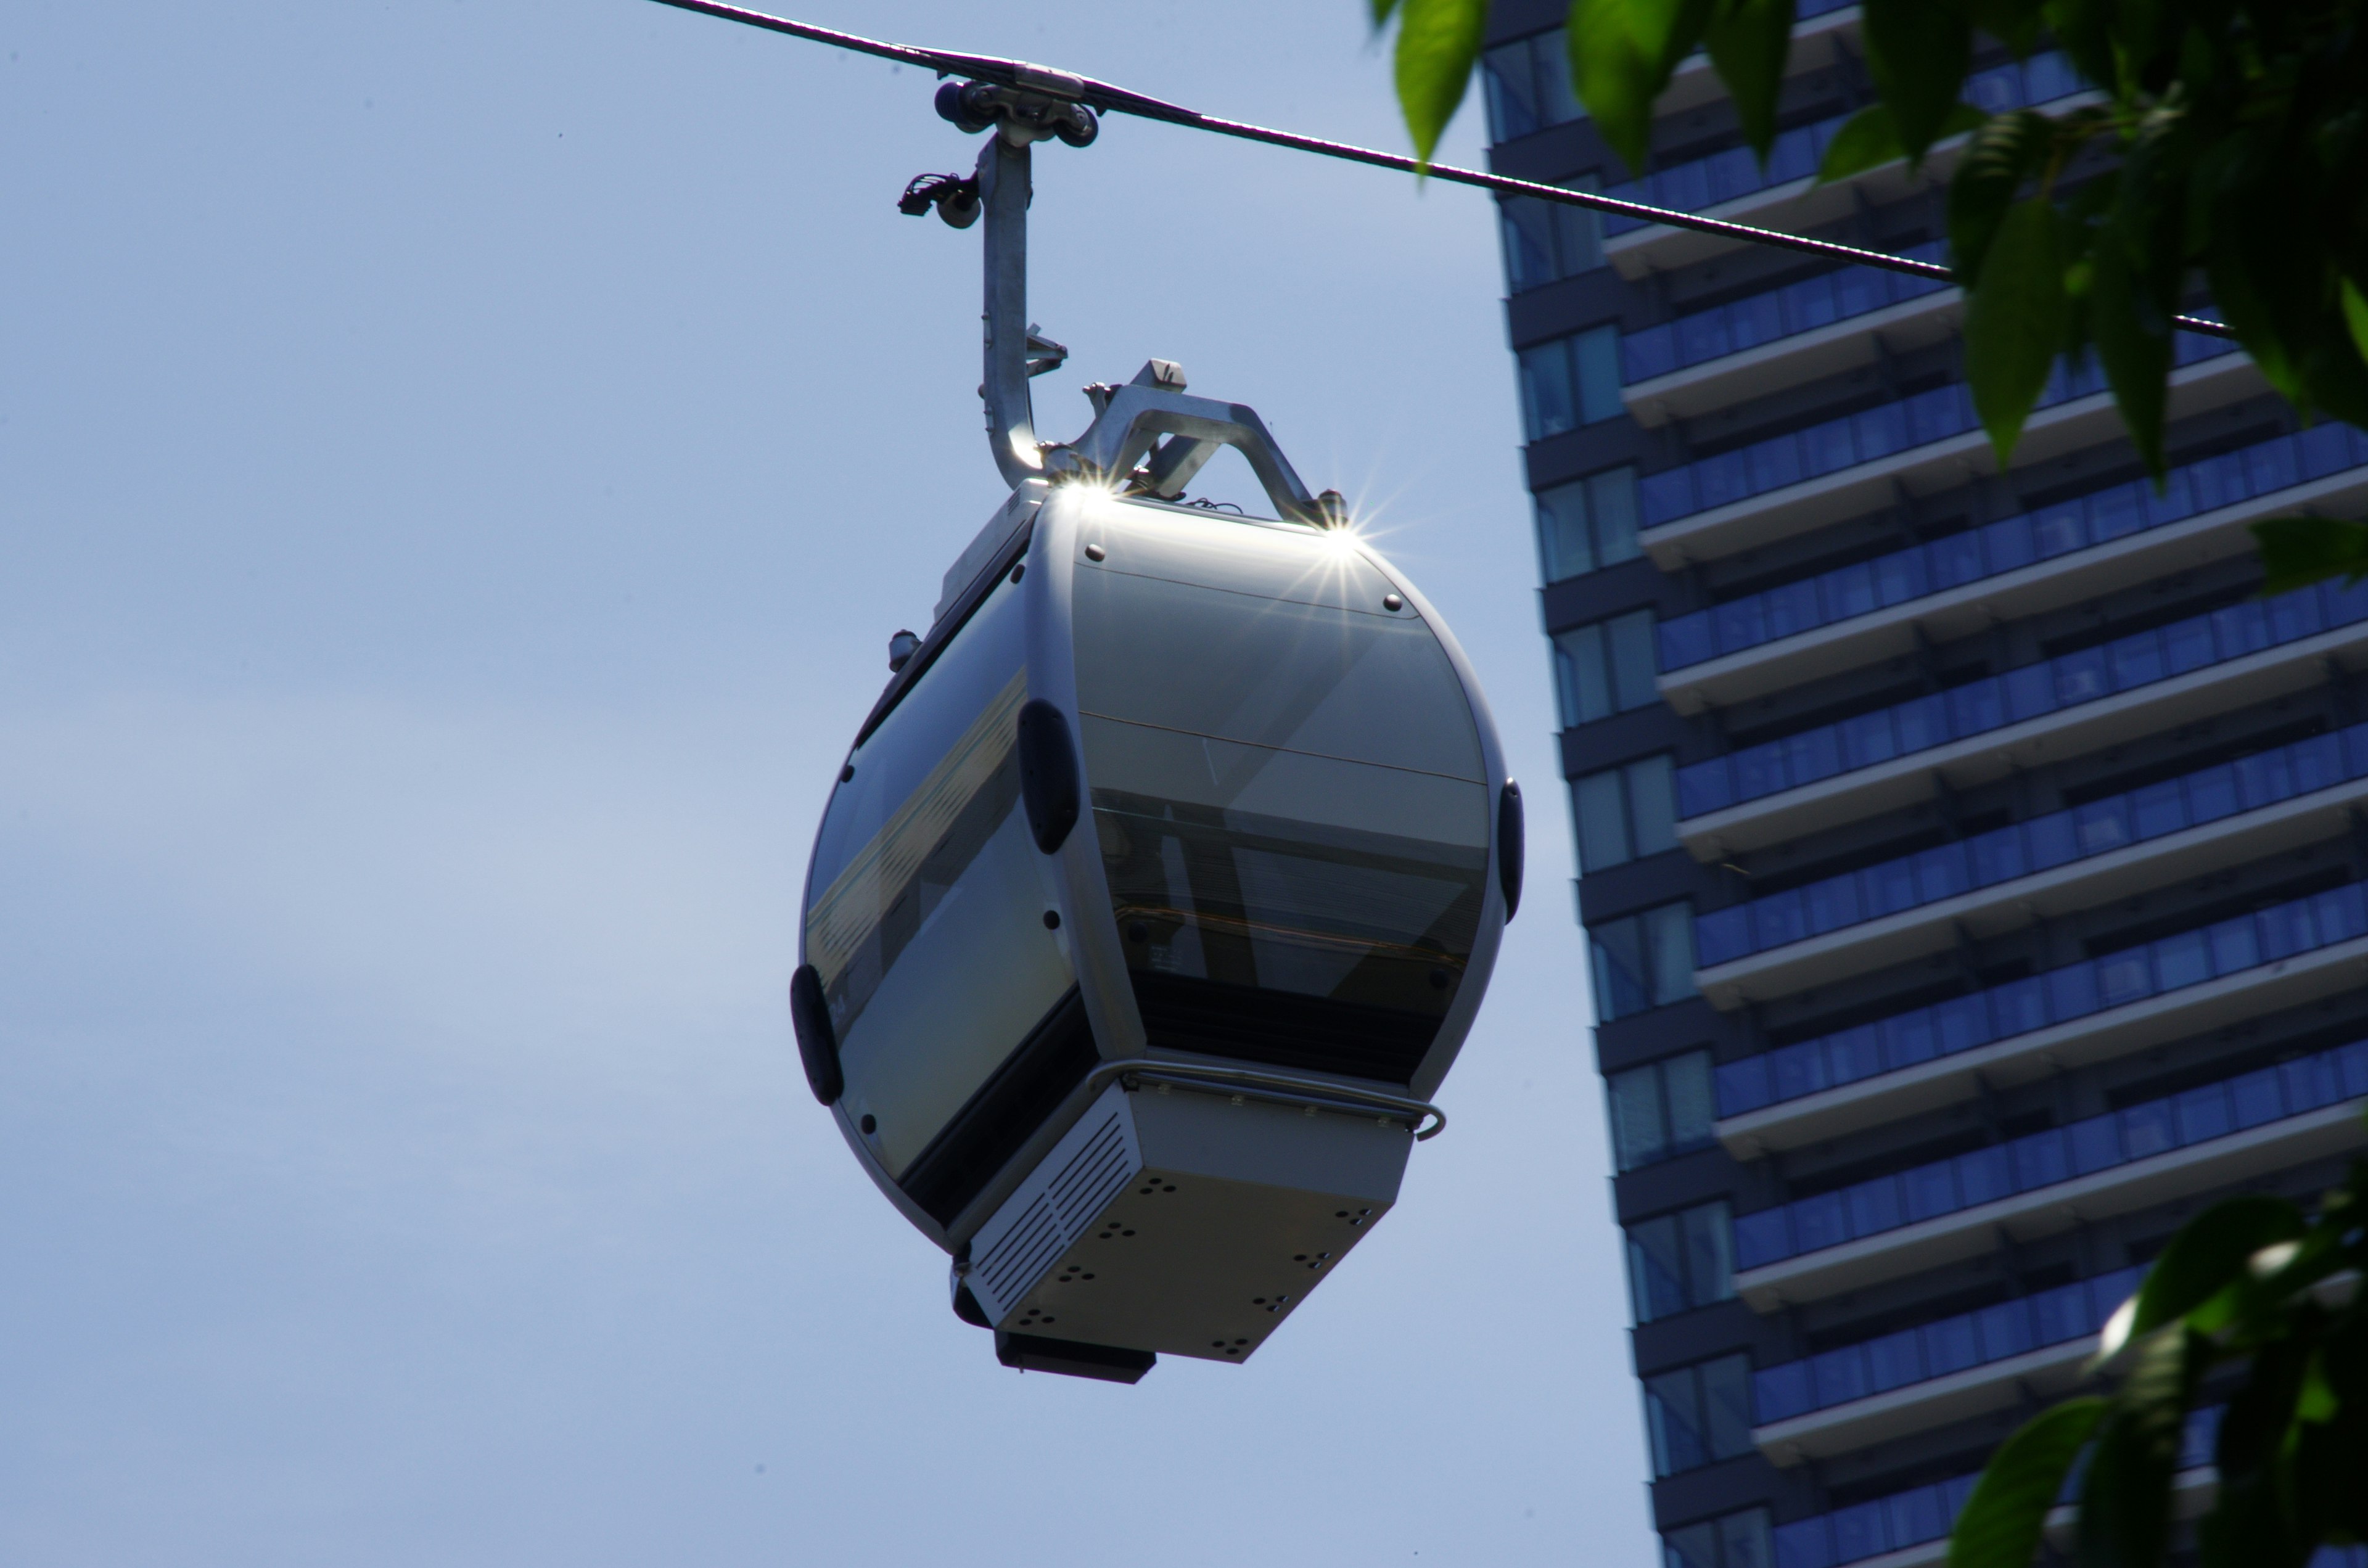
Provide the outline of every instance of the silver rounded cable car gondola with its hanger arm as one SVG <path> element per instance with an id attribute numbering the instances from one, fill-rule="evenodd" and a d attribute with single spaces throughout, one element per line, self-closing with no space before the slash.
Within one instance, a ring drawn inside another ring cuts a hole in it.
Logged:
<path id="1" fill-rule="evenodd" d="M 1454 637 L 1243 405 L 1151 360 L 1040 443 L 1030 147 L 1066 78 L 907 211 L 985 213 L 1009 502 L 900 632 L 815 838 L 798 1049 L 1009 1367 L 1243 1362 L 1397 1201 L 1520 898 L 1520 791 Z M 1222 448 L 1276 516 L 1182 505 Z"/>

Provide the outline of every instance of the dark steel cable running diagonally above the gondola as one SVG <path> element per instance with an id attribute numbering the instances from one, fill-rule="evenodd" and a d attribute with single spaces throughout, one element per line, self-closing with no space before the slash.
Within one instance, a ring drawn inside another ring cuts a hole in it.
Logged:
<path id="1" fill-rule="evenodd" d="M 1639 223 L 1660 223 L 1674 230 L 1693 230 L 1698 234 L 1738 239 L 1743 244 L 1767 244 L 1785 251 L 1802 251 L 1804 256 L 1847 261 L 1849 265 L 1857 268 L 1880 268 L 1885 272 L 1906 272 L 1909 277 L 1930 277 L 1951 284 L 1956 282 L 1956 272 L 1939 265 L 1937 261 L 1913 261 L 1909 256 L 1885 256 L 1883 251 L 1861 251 L 1859 246 L 1838 244 L 1833 239 L 1783 234 L 1778 230 L 1762 230 L 1752 227 L 1750 223 L 1729 223 L 1724 218 L 1698 218 L 1695 213 L 1679 213 L 1665 206 L 1648 206 L 1643 201 L 1622 201 L 1620 197 L 1603 197 L 1589 189 L 1570 189 L 1565 185 L 1511 180 L 1506 175 L 1492 175 L 1478 168 L 1456 168 L 1452 163 L 1423 166 L 1399 152 L 1376 152 L 1371 147 L 1354 147 L 1350 142 L 1328 142 L 1314 135 L 1298 135 L 1295 130 L 1269 130 L 1267 126 L 1222 121 L 1212 114 L 1201 114 L 1196 109 L 1167 104 L 1156 97 L 1144 97 L 1141 92 L 1127 92 L 1125 88 L 1113 88 L 1111 83 L 1094 81 L 1092 76 L 1073 76 L 1068 71 L 1056 71 L 1051 66 L 1035 66 L 1023 59 L 995 59 L 992 54 L 950 54 L 945 50 L 916 50 L 905 43 L 883 43 L 879 38 L 862 38 L 860 33 L 841 33 L 836 28 L 815 26 L 810 21 L 789 21 L 786 17 L 767 17 L 765 12 L 751 12 L 739 5 L 718 5 L 718 0 L 656 0 L 656 2 L 670 5 L 680 12 L 699 12 L 701 17 L 722 17 L 725 21 L 739 21 L 746 26 L 765 28 L 767 33 L 786 33 L 791 38 L 805 38 L 810 43 L 826 43 L 836 50 L 852 50 L 857 54 L 874 54 L 879 59 L 893 59 L 897 64 L 921 66 L 924 71 L 935 71 L 938 76 L 973 76 L 978 81 L 992 81 L 1006 88 L 1049 92 L 1054 97 L 1075 99 L 1103 114 L 1132 114 L 1146 121 L 1165 121 L 1167 126 L 1212 130 L 1215 135 L 1229 135 L 1243 142 L 1265 142 L 1267 147 L 1288 147 L 1293 152 L 1312 152 L 1324 159 L 1369 163 L 1373 168 L 1395 168 L 1399 173 L 1428 175 L 1433 180 L 1444 180 L 1449 185 L 1473 185 L 1487 192 L 1497 192 L 1499 197 L 1537 197 L 1539 201 L 1584 206 L 1596 213 L 1617 213 L 1622 218 L 1636 218 Z M 2174 315 L 2171 324 L 2179 332 L 2195 332 L 2202 336 L 2216 336 L 2216 339 L 2235 336 L 2235 332 L 2224 322 L 2212 322 L 2200 315 Z"/>

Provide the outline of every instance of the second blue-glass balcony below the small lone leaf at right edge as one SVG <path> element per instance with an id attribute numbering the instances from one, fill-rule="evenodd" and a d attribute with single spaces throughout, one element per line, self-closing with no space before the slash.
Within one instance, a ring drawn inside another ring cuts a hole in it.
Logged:
<path id="1" fill-rule="evenodd" d="M 2340 836 L 2361 801 L 2368 725 L 1700 914 L 1695 985 L 1719 1009 L 1793 995 Z"/>

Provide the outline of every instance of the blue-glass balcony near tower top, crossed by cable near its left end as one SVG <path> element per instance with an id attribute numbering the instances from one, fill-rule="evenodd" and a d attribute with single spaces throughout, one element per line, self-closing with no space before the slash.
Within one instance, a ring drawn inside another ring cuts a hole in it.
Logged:
<path id="1" fill-rule="evenodd" d="M 2039 104 L 2060 111 L 2096 97 L 2081 90 L 2072 66 L 2055 50 L 1965 78 L 1965 99 L 1991 114 Z M 1781 133 L 1769 147 L 1767 166 L 1750 147 L 1731 147 L 1707 159 L 1658 168 L 1641 180 L 1615 185 L 1606 194 L 1703 213 L 1705 218 L 1804 232 L 1812 225 L 1847 218 L 1864 204 L 1897 201 L 1935 180 L 1946 182 L 1965 144 L 1965 137 L 1937 144 L 1925 159 L 1923 173 L 1911 173 L 1904 161 L 1894 161 L 1849 180 L 1819 185 L 1816 166 L 1826 156 L 1833 133 L 1847 118 L 1847 114 L 1835 114 Z M 1733 244 L 1719 234 L 1698 234 L 1636 218 L 1603 218 L 1603 258 L 1632 282 L 1705 261 L 1733 249 Z"/>

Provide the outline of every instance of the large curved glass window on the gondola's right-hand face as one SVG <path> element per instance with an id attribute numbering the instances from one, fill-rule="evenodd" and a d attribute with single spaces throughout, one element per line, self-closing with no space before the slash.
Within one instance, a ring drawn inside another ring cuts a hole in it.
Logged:
<path id="1" fill-rule="evenodd" d="M 1305 602 L 1326 595 L 1286 540 L 1241 545 L 1222 590 L 1120 571 L 1125 535 L 1077 571 L 1094 834 L 1144 1028 L 1407 1082 L 1480 931 L 1478 725 L 1416 616 Z"/>

